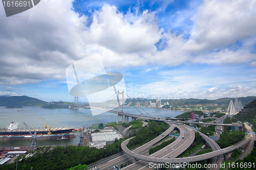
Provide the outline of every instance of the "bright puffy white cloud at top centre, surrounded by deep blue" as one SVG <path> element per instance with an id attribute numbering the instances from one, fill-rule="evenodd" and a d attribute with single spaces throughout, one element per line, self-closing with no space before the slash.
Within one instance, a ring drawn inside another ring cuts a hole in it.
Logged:
<path id="1" fill-rule="evenodd" d="M 139 17 L 131 13 L 124 17 L 115 6 L 104 5 L 94 14 L 89 35 L 96 44 L 115 52 L 135 53 L 156 48 L 154 44 L 161 38 L 161 31 L 154 13 L 144 11 Z"/>

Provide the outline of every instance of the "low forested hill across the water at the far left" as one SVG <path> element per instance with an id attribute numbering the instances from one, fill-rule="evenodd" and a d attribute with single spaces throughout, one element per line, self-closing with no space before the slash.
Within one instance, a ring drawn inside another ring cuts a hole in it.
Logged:
<path id="1" fill-rule="evenodd" d="M 46 102 L 23 96 L 0 96 L 0 106 L 42 106 Z"/>

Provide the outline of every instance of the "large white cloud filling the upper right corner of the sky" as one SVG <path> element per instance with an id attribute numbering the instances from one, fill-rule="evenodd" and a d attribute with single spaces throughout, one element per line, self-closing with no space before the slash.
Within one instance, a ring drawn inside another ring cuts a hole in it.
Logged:
<path id="1" fill-rule="evenodd" d="M 204 1 L 195 19 L 191 39 L 204 49 L 220 48 L 255 36 L 255 1 Z"/>

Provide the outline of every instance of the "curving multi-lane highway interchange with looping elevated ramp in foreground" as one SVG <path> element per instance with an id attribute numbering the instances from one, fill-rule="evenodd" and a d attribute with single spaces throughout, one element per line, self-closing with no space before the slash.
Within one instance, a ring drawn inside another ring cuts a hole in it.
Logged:
<path id="1" fill-rule="evenodd" d="M 198 156 L 177 158 L 177 156 L 183 153 L 189 147 L 189 145 L 193 143 L 195 139 L 196 130 L 189 129 L 187 125 L 184 125 L 181 123 L 178 124 L 177 122 L 175 124 L 169 121 L 165 123 L 167 123 L 170 127 L 163 133 L 164 135 L 160 135 L 154 140 L 132 151 L 127 149 L 126 147 L 127 143 L 129 143 L 129 140 L 131 139 L 129 138 L 123 141 L 121 144 L 122 150 L 126 154 L 117 155 L 111 160 L 99 162 L 97 164 L 97 167 L 99 167 L 99 169 L 112 169 L 114 165 L 120 165 L 127 162 L 135 162 L 129 166 L 123 167 L 122 169 L 152 169 L 149 167 L 150 162 L 155 162 L 155 163 L 181 162 L 183 163 L 183 162 L 197 162 L 197 161 L 205 160 L 209 158 L 213 158 L 211 163 L 220 164 L 223 162 L 223 154 L 231 152 L 236 148 L 240 148 L 243 145 L 245 145 L 247 142 L 250 142 L 251 144 L 253 143 L 252 140 L 255 139 L 255 135 L 252 136 L 249 134 L 241 142 L 234 144 L 231 147 L 221 149 L 214 140 L 211 140 L 208 136 L 200 133 L 200 135 L 209 143 L 213 152 L 203 154 L 203 155 L 198 155 Z M 180 136 L 173 143 L 169 144 L 167 147 L 149 156 L 148 150 L 153 147 L 153 144 L 157 143 L 158 141 L 163 139 L 165 136 L 167 136 L 170 132 L 174 130 L 175 127 L 177 127 L 180 130 Z M 246 126 L 246 128 L 248 130 L 250 129 L 249 126 Z M 184 136 L 184 138 L 182 136 Z M 248 150 L 248 152 L 250 152 L 250 150 Z M 219 169 L 219 167 L 211 168 L 211 169 Z"/>

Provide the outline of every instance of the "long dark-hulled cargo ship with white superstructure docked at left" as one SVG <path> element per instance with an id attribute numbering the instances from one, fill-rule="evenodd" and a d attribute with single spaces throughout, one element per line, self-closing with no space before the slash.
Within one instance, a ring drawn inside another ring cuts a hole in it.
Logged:
<path id="1" fill-rule="evenodd" d="M 32 128 L 32 129 L 24 129 L 24 128 L 18 128 L 17 122 L 11 122 L 10 126 L 7 127 L 7 129 L 0 129 L 0 136 L 23 136 L 23 135 L 30 135 L 29 131 L 34 134 L 36 132 L 37 135 L 47 135 L 49 132 L 48 128 Z M 51 128 L 52 135 L 54 134 L 67 134 L 71 133 L 74 128 Z"/>

